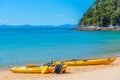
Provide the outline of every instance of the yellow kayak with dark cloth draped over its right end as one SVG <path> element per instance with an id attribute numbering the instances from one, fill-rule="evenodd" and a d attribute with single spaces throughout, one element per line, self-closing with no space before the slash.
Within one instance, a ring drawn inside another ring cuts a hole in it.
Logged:
<path id="1" fill-rule="evenodd" d="M 63 65 L 60 69 L 60 73 L 65 72 L 66 68 L 67 68 L 67 65 Z M 15 73 L 42 73 L 42 74 L 46 74 L 46 73 L 55 73 L 55 66 L 53 66 L 53 67 L 51 67 L 51 66 L 12 67 L 12 68 L 10 68 L 10 71 L 15 72 Z"/>

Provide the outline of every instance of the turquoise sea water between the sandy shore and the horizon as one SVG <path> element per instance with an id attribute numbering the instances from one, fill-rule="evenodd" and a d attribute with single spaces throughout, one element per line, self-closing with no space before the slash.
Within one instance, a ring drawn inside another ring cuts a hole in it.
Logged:
<path id="1" fill-rule="evenodd" d="M 120 31 L 0 29 L 0 67 L 120 55 Z"/>

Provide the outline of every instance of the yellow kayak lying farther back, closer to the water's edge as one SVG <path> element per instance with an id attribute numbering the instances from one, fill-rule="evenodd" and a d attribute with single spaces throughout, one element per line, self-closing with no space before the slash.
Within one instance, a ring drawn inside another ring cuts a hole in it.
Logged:
<path id="1" fill-rule="evenodd" d="M 95 58 L 95 59 L 77 59 L 77 60 L 66 60 L 63 62 L 56 61 L 55 65 L 63 63 L 68 66 L 82 66 L 82 65 L 107 65 L 116 60 L 116 57 L 111 58 Z"/>

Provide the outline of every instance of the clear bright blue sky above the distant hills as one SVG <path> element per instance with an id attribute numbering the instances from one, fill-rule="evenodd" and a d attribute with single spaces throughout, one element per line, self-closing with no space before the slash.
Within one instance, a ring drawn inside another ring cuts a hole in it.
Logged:
<path id="1" fill-rule="evenodd" d="M 77 24 L 95 0 L 0 0 L 0 24 Z"/>

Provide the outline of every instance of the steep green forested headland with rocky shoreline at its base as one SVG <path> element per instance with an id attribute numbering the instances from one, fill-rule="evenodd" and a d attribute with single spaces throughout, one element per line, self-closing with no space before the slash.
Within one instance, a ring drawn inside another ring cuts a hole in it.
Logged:
<path id="1" fill-rule="evenodd" d="M 120 0 L 96 0 L 72 29 L 120 31 Z"/>

